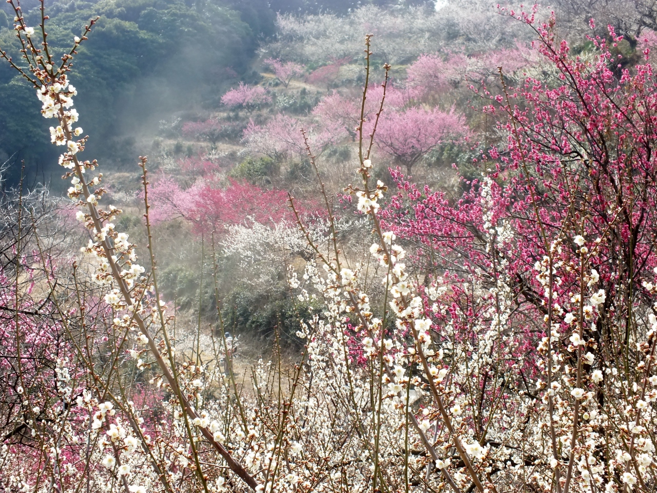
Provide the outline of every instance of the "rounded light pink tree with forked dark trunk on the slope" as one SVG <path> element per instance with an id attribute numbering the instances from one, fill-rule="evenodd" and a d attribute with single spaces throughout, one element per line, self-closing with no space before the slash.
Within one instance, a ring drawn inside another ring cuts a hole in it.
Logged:
<path id="1" fill-rule="evenodd" d="M 413 106 L 384 112 L 377 129 L 376 145 L 393 156 L 411 174 L 413 165 L 442 142 L 462 139 L 468 128 L 462 116 L 437 108 Z"/>

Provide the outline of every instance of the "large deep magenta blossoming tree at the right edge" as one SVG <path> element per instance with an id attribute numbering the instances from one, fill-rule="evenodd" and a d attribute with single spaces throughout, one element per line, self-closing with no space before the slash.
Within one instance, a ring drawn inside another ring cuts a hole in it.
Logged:
<path id="1" fill-rule="evenodd" d="M 530 16 L 521 18 L 533 25 Z M 443 298 L 447 308 L 434 313 L 438 331 L 449 327 L 459 337 L 476 339 L 472 320 L 486 319 L 496 296 L 475 303 L 482 296 L 472 296 L 472 289 L 495 293 L 499 279 L 511 280 L 505 289 L 517 308 L 507 322 L 515 338 L 509 357 L 523 362 L 520 387 L 522 379 L 535 375 L 536 341 L 547 332 L 543 319 L 550 304 L 545 279 L 537 275 L 546 258 L 568 265 L 579 262 L 580 243 L 595 251 L 587 269 L 599 281 L 589 285 L 606 297 L 601 315 L 584 333 L 595 341 L 589 350 L 596 358 L 627 350 L 633 330 L 628 313 L 652 309 L 657 81 L 651 64 L 622 67 L 616 50 L 622 38 L 612 26 L 609 31 L 609 39 L 590 38 L 597 54 L 587 61 L 572 57 L 565 41 L 555 41 L 551 23 L 537 26 L 537 50 L 556 70 L 558 83 L 528 78 L 499 93 L 472 85 L 487 101 L 483 111 L 507 135 L 476 160 L 480 177 L 463 179 L 466 191 L 455 198 L 393 171 L 399 191 L 381 213 L 399 237 L 420 245 L 415 262 L 449 286 Z M 581 237 L 579 243 L 574 237 Z M 557 272 L 550 313 L 568 346 L 570 321 L 564 314 L 576 310 L 574 293 L 583 275 L 570 268 Z M 482 388 L 489 376 L 479 376 Z"/>

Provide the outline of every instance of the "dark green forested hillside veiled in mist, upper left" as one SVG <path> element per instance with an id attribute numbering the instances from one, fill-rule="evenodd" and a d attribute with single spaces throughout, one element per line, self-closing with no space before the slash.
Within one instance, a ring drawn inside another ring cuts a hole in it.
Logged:
<path id="1" fill-rule="evenodd" d="M 39 23 L 36 2 L 24 3 L 26 22 Z M 273 34 L 273 12 L 239 2 L 242 12 L 225 1 L 53 1 L 49 3 L 49 42 L 68 49 L 90 18 L 99 16 L 95 35 L 80 49 L 72 75 L 79 88 L 81 124 L 93 133 L 89 142 L 99 158 L 114 166 L 134 163 L 135 142 L 151 136 L 159 120 L 175 112 L 215 106 L 229 83 L 252 77 L 250 63 L 263 37 Z M 256 3 L 257 4 L 257 3 Z M 251 8 L 250 8 L 251 7 Z M 8 7 L 0 14 L 0 42 L 14 57 L 17 45 Z M 242 16 L 244 20 L 242 20 Z M 76 68 L 76 70 L 78 70 Z M 3 65 L 0 69 L 1 160 L 25 160 L 30 176 L 50 178 L 57 158 L 45 141 L 45 122 L 32 90 Z M 38 112 L 37 112 L 38 114 Z M 32 140 L 30 136 L 41 138 Z M 15 169 L 13 177 L 15 179 Z M 53 181 L 53 184 L 58 182 Z M 56 185 L 57 186 L 57 185 Z"/>

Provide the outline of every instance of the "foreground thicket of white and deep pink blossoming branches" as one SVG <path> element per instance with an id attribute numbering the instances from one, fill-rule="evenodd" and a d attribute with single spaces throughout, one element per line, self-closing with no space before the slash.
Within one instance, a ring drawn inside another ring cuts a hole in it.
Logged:
<path id="1" fill-rule="evenodd" d="M 95 21 L 55 64 L 10 3 L 24 59 L 2 55 L 56 122 L 68 195 L 91 239 L 84 285 L 52 301 L 49 329 L 66 335 L 66 354 L 53 346 L 43 359 L 55 378 L 9 395 L 29 433 L 3 440 L 4 490 L 652 491 L 657 81 L 650 64 L 616 66 L 613 30 L 610 43 L 591 37 L 586 61 L 555 41 L 553 19 L 508 12 L 535 29 L 558 77 L 512 90 L 502 83 L 499 94 L 473 85 L 506 141 L 484 149 L 481 176 L 456 200 L 399 172 L 397 193 L 374 183 L 390 66 L 366 126 L 368 35 L 359 181 L 346 192 L 369 218 L 371 247 L 346 256 L 321 181 L 325 229 L 311 232 L 290 199 L 315 254 L 303 272 L 288 272 L 290 289 L 322 310 L 298 321 L 298 362 L 285 365 L 278 351 L 254 366 L 252 392 L 243 392 L 223 337 L 177 350 L 150 241 L 147 272 L 117 231 L 121 211 L 101 206 L 99 164 L 81 160 L 87 137 L 75 125 L 68 72 Z M 312 141 L 301 138 L 317 171 Z M 55 293 L 55 270 L 41 260 Z M 21 362 L 24 340 L 30 350 L 54 342 L 34 340 L 22 321 L 31 306 L 14 307 L 3 331 L 15 335 Z"/>

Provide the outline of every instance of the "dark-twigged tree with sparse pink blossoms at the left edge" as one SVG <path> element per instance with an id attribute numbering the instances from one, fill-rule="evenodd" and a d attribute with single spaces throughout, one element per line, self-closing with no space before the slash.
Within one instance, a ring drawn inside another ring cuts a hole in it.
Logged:
<path id="1" fill-rule="evenodd" d="M 0 438 L 5 447 L 27 452 L 25 473 L 38 474 L 35 465 L 44 458 L 39 438 L 70 423 L 62 412 L 68 402 L 62 383 L 81 376 L 81 367 L 66 365 L 74 349 L 53 293 L 43 290 L 49 275 L 68 283 L 61 271 L 68 247 L 80 239 L 69 233 L 76 228 L 68 212 L 43 189 L 27 192 L 21 185 L 0 195 Z M 35 427 L 43 431 L 38 438 L 31 433 Z"/>

